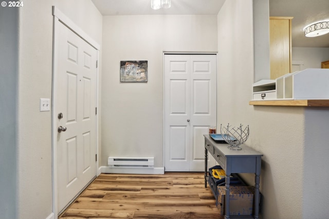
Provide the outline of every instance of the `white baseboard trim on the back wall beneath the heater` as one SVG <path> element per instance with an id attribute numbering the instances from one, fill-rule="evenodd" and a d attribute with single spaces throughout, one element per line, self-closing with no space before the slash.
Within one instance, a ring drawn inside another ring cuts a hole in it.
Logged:
<path id="1" fill-rule="evenodd" d="M 127 173 L 127 174 L 165 174 L 165 168 L 109 168 L 107 166 L 99 167 L 100 173 Z"/>

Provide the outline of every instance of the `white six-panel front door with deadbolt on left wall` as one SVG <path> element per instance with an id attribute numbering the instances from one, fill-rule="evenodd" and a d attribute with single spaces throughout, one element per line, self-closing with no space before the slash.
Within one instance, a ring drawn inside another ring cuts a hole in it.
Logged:
<path id="1" fill-rule="evenodd" d="M 59 22 L 54 115 L 58 212 L 96 177 L 97 50 Z M 56 107 L 56 108 L 55 108 Z"/>

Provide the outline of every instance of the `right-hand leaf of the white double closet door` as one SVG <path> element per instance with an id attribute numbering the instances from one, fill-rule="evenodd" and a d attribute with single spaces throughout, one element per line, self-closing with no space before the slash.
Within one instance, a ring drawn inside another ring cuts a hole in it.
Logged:
<path id="1" fill-rule="evenodd" d="M 209 126 L 217 123 L 217 91 L 216 91 L 216 56 L 193 55 L 191 56 L 191 161 L 190 170 L 204 171 L 205 143 L 204 134 L 209 133 Z M 198 132 L 196 132 L 198 131 Z M 211 157 L 211 156 L 210 156 Z M 209 158 L 209 165 L 215 161 Z"/>

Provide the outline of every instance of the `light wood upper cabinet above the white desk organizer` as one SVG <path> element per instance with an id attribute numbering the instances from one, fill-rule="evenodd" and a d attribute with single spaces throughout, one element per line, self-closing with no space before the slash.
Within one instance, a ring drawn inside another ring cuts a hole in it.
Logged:
<path id="1" fill-rule="evenodd" d="M 291 20 L 269 17 L 270 79 L 291 72 Z"/>

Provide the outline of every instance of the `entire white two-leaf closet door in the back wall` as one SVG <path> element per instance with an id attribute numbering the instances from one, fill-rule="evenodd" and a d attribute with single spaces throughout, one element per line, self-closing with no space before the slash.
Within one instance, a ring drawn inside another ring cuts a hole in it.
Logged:
<path id="1" fill-rule="evenodd" d="M 216 55 L 165 54 L 164 66 L 165 170 L 204 171 L 203 135 L 216 126 Z"/>

